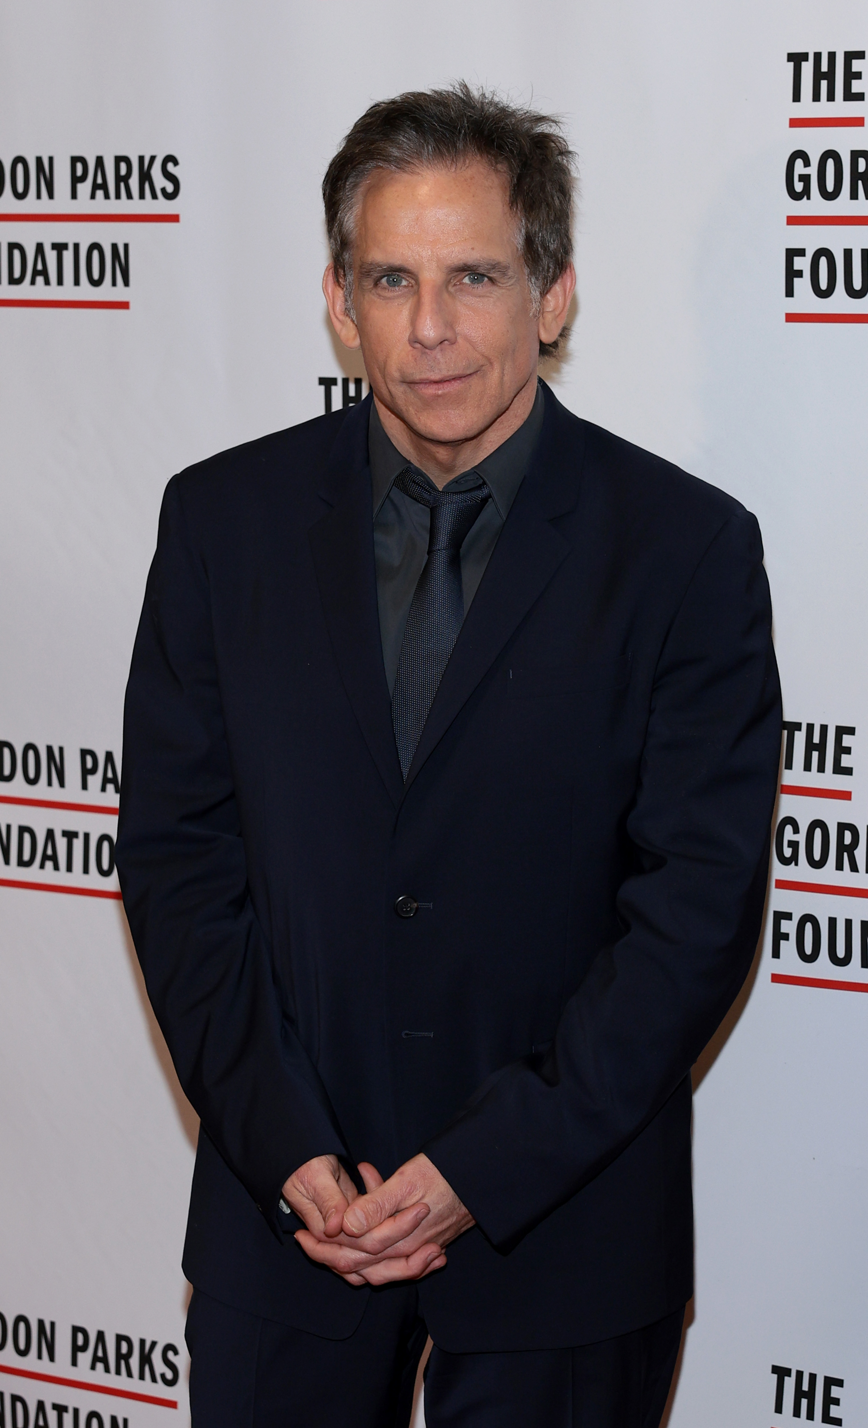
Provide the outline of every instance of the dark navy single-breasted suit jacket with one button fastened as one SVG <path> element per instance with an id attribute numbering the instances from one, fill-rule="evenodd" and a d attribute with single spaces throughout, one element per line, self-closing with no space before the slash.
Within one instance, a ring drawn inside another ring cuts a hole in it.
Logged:
<path id="1" fill-rule="evenodd" d="M 201 1118 L 184 1268 L 343 1338 L 371 1291 L 281 1185 L 424 1148 L 477 1220 L 420 1285 L 434 1339 L 590 1342 L 691 1294 L 690 1068 L 754 955 L 778 768 L 760 531 L 545 388 L 404 785 L 368 410 L 163 503 L 117 867 Z"/>

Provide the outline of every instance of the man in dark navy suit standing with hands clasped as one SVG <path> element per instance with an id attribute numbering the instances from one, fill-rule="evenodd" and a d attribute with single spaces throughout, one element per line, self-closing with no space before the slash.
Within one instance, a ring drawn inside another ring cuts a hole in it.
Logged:
<path id="1" fill-rule="evenodd" d="M 371 397 L 176 477 L 117 864 L 201 1117 L 196 1428 L 655 1428 L 690 1068 L 751 964 L 779 694 L 757 523 L 538 383 L 557 126 L 375 104 L 324 181 Z"/>

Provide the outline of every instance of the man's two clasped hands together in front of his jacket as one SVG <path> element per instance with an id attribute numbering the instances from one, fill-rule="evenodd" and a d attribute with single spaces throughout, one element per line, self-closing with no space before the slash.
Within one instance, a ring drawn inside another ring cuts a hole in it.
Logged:
<path id="1" fill-rule="evenodd" d="M 445 1264 L 445 1247 L 474 1224 L 427 1155 L 414 1155 L 387 1181 L 363 1161 L 360 1195 L 337 1155 L 307 1161 L 283 1187 L 304 1221 L 296 1240 L 347 1284 L 423 1279 Z"/>

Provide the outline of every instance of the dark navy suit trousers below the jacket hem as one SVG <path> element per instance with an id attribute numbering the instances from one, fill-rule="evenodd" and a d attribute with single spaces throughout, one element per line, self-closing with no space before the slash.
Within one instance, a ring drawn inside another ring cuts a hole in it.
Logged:
<path id="1" fill-rule="evenodd" d="M 684 1309 L 578 1348 L 445 1354 L 425 1367 L 427 1428 L 658 1428 Z M 375 1289 L 348 1339 L 324 1339 L 196 1291 L 193 1428 L 407 1428 L 427 1329 L 413 1285 Z"/>

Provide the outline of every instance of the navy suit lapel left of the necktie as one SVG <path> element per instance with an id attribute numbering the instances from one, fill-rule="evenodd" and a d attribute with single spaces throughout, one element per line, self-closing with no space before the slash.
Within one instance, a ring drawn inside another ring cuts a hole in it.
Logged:
<path id="1" fill-rule="evenodd" d="M 371 398 L 344 420 L 321 496 L 330 510 L 310 528 L 326 624 L 341 680 L 371 757 L 397 805 L 404 793 L 377 611 L 368 414 Z"/>

